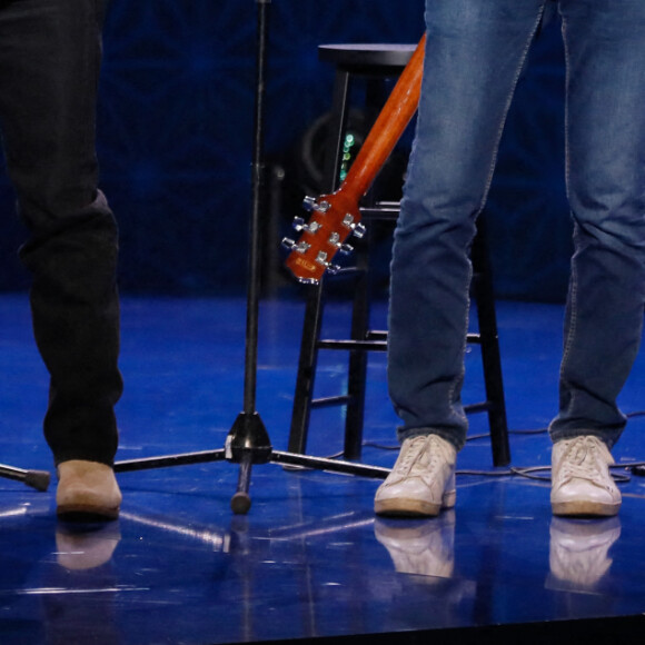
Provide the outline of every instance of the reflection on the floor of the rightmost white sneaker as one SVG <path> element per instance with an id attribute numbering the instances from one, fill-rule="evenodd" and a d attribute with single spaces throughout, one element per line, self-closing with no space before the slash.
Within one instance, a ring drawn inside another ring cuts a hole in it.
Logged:
<path id="1" fill-rule="evenodd" d="M 593 587 L 612 566 L 607 552 L 619 535 L 617 517 L 594 522 L 554 517 L 550 524 L 550 573 L 559 580 Z"/>

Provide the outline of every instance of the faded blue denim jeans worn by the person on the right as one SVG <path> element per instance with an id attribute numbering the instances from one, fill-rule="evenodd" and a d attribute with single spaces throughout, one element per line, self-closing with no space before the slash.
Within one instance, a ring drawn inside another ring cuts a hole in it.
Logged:
<path id="1" fill-rule="evenodd" d="M 399 439 L 434 433 L 464 445 L 468 252 L 516 81 L 550 1 L 426 2 L 426 73 L 391 262 L 388 379 Z M 613 446 L 645 304 L 645 2 L 557 4 L 575 254 L 550 435 L 595 435 Z"/>

